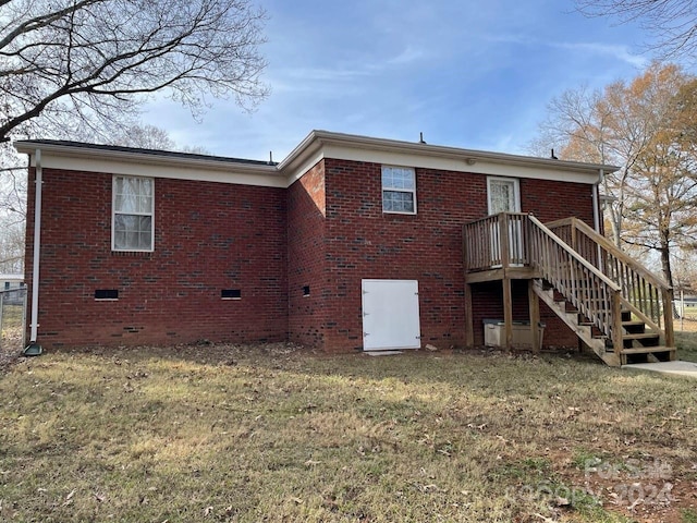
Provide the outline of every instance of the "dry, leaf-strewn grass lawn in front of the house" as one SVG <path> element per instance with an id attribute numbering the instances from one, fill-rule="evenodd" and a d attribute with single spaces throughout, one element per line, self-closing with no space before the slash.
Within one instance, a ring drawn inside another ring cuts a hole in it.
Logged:
<path id="1" fill-rule="evenodd" d="M 555 357 L 65 352 L 0 394 L 2 521 L 626 521 L 585 459 L 695 481 L 694 381 Z"/>

